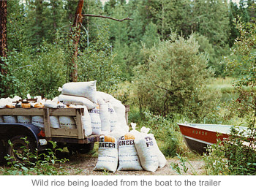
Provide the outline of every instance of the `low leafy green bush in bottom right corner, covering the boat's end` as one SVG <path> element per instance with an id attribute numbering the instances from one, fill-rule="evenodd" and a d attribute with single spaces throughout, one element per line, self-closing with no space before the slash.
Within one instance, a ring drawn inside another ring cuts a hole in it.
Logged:
<path id="1" fill-rule="evenodd" d="M 217 142 L 204 155 L 207 175 L 256 175 L 256 143 L 249 137 L 255 129 L 239 132 L 233 129 L 229 140 Z"/>

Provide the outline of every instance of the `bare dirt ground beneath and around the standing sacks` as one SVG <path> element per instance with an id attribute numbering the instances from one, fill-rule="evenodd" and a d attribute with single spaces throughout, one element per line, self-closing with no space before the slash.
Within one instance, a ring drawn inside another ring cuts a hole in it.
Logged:
<path id="1" fill-rule="evenodd" d="M 76 154 L 69 156 L 69 161 L 65 164 L 71 175 L 178 175 L 178 173 L 170 167 L 172 162 L 178 163 L 182 169 L 181 162 L 178 158 L 167 159 L 167 164 L 162 169 L 158 169 L 156 172 L 147 171 L 116 171 L 102 172 L 94 171 L 94 167 L 97 164 L 97 156 L 91 156 L 86 154 Z M 189 163 L 192 165 L 190 166 Z M 200 159 L 200 156 L 189 160 L 186 163 L 189 169 L 186 173 L 181 172 L 181 175 L 203 175 L 204 162 Z"/>

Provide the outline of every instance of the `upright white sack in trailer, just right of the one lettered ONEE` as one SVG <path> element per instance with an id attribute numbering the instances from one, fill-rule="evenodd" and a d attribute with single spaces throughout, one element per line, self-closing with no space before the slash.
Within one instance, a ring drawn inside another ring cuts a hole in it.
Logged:
<path id="1" fill-rule="evenodd" d="M 99 105 L 99 118 L 101 123 L 101 130 L 104 133 L 110 132 L 110 113 L 108 112 L 108 104 Z"/>

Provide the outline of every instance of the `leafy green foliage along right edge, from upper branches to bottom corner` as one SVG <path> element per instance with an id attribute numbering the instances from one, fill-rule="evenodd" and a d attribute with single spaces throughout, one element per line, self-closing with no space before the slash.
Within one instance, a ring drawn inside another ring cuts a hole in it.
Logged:
<path id="1" fill-rule="evenodd" d="M 233 53 L 236 59 L 227 61 L 229 71 L 240 69 L 241 77 L 234 83 L 238 99 L 230 104 L 230 110 L 239 117 L 246 118 L 246 132 L 233 129 L 231 137 L 218 142 L 205 156 L 209 175 L 255 175 L 256 174 L 256 94 L 255 88 L 255 23 L 236 23 L 240 37 L 236 39 Z M 243 87 L 250 87 L 245 90 Z"/>

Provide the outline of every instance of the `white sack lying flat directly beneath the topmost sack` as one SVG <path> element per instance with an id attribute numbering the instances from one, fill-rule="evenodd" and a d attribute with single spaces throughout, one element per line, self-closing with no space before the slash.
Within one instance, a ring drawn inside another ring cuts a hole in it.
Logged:
<path id="1" fill-rule="evenodd" d="M 58 98 L 59 102 L 63 102 L 63 104 L 74 104 L 74 105 L 85 105 L 88 110 L 93 109 L 96 107 L 96 104 L 91 102 L 91 100 L 84 98 L 84 97 L 78 97 L 78 96 L 69 96 L 69 95 L 59 95 Z"/>

